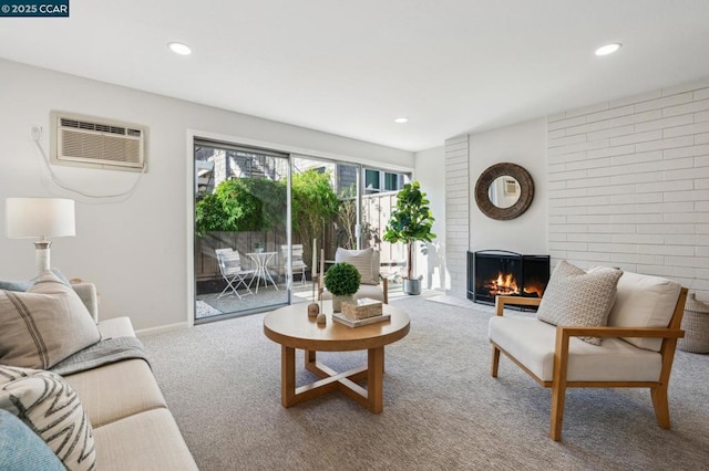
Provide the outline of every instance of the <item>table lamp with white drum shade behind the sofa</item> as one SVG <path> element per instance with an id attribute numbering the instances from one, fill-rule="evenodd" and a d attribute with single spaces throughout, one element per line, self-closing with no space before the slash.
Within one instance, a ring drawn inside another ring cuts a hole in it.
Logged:
<path id="1" fill-rule="evenodd" d="M 39 238 L 34 242 L 37 270 L 50 268 L 52 244 L 48 237 L 75 236 L 74 201 L 63 198 L 8 198 L 6 200 L 8 238 Z"/>

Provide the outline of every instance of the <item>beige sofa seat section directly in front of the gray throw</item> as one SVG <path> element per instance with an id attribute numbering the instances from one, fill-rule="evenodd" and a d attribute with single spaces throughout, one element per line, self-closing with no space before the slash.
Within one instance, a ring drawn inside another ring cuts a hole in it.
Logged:
<path id="1" fill-rule="evenodd" d="M 167 407 L 150 366 L 142 359 L 104 365 L 64 379 L 79 394 L 94 427 Z"/>

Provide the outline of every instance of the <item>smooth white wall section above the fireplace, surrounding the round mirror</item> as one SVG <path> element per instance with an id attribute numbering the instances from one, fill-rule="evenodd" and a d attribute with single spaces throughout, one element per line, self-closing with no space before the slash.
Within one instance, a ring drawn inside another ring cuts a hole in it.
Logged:
<path id="1" fill-rule="evenodd" d="M 471 134 L 470 157 L 470 250 L 511 250 L 524 254 L 547 253 L 546 119 Z M 513 163 L 524 167 L 534 180 L 534 199 L 524 214 L 497 221 L 483 214 L 475 203 L 475 182 L 490 166 Z"/>

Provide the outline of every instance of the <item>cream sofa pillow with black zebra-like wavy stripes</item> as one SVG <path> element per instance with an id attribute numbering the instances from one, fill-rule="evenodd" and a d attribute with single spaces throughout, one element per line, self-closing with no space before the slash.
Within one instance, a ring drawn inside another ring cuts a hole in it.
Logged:
<path id="1" fill-rule="evenodd" d="M 44 370 L 0 366 L 0 408 L 38 433 L 66 469 L 95 469 L 91 422 L 76 391 Z"/>

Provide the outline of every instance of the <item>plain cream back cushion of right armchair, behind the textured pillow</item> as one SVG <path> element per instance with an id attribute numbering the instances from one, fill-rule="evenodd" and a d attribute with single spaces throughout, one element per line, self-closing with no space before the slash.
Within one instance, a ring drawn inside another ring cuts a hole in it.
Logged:
<path id="1" fill-rule="evenodd" d="M 625 273 L 618 281 L 608 325 L 616 327 L 667 327 L 675 313 L 681 285 L 665 278 Z M 659 352 L 661 338 L 625 338 L 640 348 Z"/>

